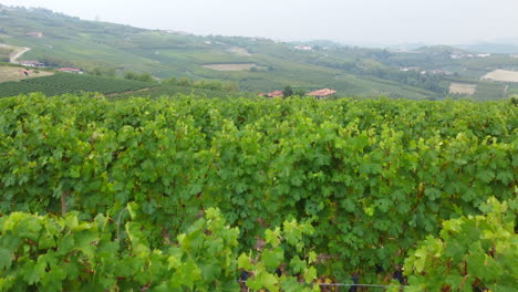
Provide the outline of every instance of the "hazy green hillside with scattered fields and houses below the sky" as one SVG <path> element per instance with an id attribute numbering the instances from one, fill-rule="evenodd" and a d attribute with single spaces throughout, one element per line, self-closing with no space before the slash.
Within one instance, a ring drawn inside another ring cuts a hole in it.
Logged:
<path id="1" fill-rule="evenodd" d="M 452 76 L 445 72 L 477 83 L 491 70 L 518 67 L 518 59 L 508 55 L 453 60 L 454 49 L 393 52 L 327 41 L 298 45 L 257 38 L 197 36 L 6 7 L 0 8 L 0 43 L 31 48 L 21 60 L 54 66 L 225 80 L 246 92 L 286 85 L 304 91 L 330 87 L 340 96 L 361 97 L 437 100 L 448 94 Z M 6 54 L 0 51 L 0 58 Z M 406 66 L 428 72 L 401 71 Z"/>

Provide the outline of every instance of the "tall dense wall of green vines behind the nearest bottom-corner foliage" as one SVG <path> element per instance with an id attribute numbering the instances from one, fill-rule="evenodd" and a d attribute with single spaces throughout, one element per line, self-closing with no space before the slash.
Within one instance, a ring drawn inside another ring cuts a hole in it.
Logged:
<path id="1" fill-rule="evenodd" d="M 0 100 L 0 210 L 81 219 L 142 206 L 153 248 L 217 207 L 239 250 L 315 217 L 322 274 L 377 282 L 441 223 L 516 196 L 509 101 Z M 282 215 L 282 216 L 279 216 Z M 292 257 L 284 249 L 284 258 Z M 274 257 L 273 257 L 274 259 Z M 301 259 L 302 260 L 302 259 Z"/>

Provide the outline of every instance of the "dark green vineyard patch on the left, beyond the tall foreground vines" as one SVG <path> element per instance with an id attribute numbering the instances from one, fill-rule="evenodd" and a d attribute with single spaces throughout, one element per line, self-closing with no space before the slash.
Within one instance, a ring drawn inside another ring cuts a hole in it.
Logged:
<path id="1" fill-rule="evenodd" d="M 41 92 L 49 96 L 81 92 L 113 94 L 149 88 L 156 85 L 157 84 L 147 82 L 59 73 L 52 76 L 23 80 L 21 82 L 0 83 L 0 97 L 29 94 L 33 92 Z"/>

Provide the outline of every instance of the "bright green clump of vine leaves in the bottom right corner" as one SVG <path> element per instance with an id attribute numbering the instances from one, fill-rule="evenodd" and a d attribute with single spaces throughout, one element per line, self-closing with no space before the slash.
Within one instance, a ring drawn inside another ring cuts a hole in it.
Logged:
<path id="1" fill-rule="evenodd" d="M 438 238 L 419 243 L 405 260 L 405 291 L 516 291 L 517 200 L 490 198 L 484 215 L 443 222 Z"/>

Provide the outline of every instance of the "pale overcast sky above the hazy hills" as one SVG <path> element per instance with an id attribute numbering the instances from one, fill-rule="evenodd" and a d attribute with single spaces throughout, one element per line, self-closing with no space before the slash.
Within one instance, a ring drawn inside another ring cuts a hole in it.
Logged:
<path id="1" fill-rule="evenodd" d="M 518 0 L 0 0 L 196 34 L 460 44 L 518 39 Z"/>

